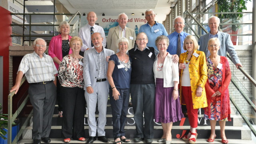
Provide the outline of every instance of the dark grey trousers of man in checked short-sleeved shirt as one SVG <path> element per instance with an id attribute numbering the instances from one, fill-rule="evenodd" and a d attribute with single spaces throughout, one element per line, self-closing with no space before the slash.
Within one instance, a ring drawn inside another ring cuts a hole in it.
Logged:
<path id="1" fill-rule="evenodd" d="M 56 102 L 56 86 L 53 82 L 30 84 L 28 94 L 33 106 L 32 138 L 34 140 L 49 137 Z"/>

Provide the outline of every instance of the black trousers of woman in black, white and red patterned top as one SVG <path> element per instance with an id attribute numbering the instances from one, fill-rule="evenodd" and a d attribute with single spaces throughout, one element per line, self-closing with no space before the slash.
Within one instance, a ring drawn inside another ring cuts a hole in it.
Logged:
<path id="1" fill-rule="evenodd" d="M 60 90 L 63 104 L 62 138 L 84 137 L 84 89 L 61 86 Z"/>

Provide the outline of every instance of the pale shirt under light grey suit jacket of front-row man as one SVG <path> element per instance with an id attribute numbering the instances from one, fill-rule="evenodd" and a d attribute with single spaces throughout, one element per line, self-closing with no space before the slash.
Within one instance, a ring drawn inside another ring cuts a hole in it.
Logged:
<path id="1" fill-rule="evenodd" d="M 98 66 L 97 79 L 106 78 L 104 50 L 102 50 L 100 53 L 98 53 L 95 49 L 95 52 L 96 52 L 96 56 L 97 56 L 97 66 Z"/>

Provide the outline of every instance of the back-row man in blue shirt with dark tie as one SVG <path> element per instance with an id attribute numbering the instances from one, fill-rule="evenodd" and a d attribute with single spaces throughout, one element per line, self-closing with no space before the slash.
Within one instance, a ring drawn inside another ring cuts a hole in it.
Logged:
<path id="1" fill-rule="evenodd" d="M 169 46 L 167 48 L 167 52 L 170 54 L 178 54 L 178 37 L 180 35 L 180 54 L 186 52 L 186 50 L 183 49 L 183 42 L 186 36 L 190 35 L 186 32 L 183 32 L 183 28 L 185 26 L 185 20 L 182 16 L 177 16 L 174 18 L 174 32 L 167 37 L 169 38 Z M 178 56 L 180 56 L 178 54 Z"/>

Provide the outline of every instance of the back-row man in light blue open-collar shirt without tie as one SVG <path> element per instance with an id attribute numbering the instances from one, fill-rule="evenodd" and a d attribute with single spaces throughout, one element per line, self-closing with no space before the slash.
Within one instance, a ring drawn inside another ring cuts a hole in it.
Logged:
<path id="1" fill-rule="evenodd" d="M 148 44 L 147 46 L 154 47 L 156 50 L 156 44 L 155 40 L 158 36 L 164 35 L 167 36 L 168 33 L 166 32 L 166 29 L 164 28 L 163 24 L 160 24 L 155 21 L 155 16 L 153 10 L 146 10 L 145 12 L 145 18 L 148 21 L 146 24 L 140 26 L 139 33 L 145 32 L 148 36 Z"/>

